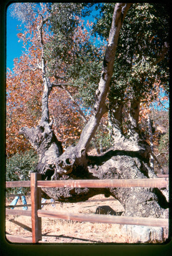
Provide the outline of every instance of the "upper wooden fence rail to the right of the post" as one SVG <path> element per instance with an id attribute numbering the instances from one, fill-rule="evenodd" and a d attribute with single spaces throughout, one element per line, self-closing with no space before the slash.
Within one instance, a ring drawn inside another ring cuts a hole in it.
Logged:
<path id="1" fill-rule="evenodd" d="M 53 180 L 37 181 L 38 187 L 167 187 L 168 178 L 138 180 Z"/>

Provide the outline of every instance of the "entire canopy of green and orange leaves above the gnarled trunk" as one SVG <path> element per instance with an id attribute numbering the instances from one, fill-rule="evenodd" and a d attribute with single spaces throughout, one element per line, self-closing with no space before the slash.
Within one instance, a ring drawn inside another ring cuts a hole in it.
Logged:
<path id="1" fill-rule="evenodd" d="M 115 4 L 97 4 L 95 9 L 100 12 L 95 17 L 95 23 L 88 21 L 86 27 L 82 18 L 90 14 L 93 6 L 22 3 L 12 7 L 12 13 L 26 26 L 26 31 L 18 33 L 26 52 L 14 60 L 15 68 L 7 74 L 9 155 L 16 152 L 16 144 L 19 151 L 30 148 L 25 139 L 21 141 L 17 129 L 23 122 L 32 125 L 34 120 L 37 123 L 41 116 L 42 50 L 46 76 L 56 83 L 49 96 L 49 112 L 55 133 L 65 146 L 79 139 L 84 123 L 93 111 L 106 47 L 98 46 L 93 34 L 107 40 Z M 41 20 L 42 47 L 37 40 Z M 109 114 L 104 115 L 95 135 L 97 140 L 94 140 L 94 145 L 98 150 L 102 147 L 99 134 L 104 134 L 106 141 L 103 144 L 109 146 L 114 144 L 116 131 L 120 131 L 119 135 L 131 136 L 133 125 L 138 128 L 138 123 L 147 118 L 152 102 L 159 101 L 160 105 L 161 100 L 167 99 L 168 30 L 166 6 L 133 4 L 128 10 L 120 31 L 117 61 L 114 62 L 107 97 Z M 166 96 L 160 98 L 163 90 Z M 132 115 L 132 108 L 136 106 L 138 113 L 135 111 Z"/>

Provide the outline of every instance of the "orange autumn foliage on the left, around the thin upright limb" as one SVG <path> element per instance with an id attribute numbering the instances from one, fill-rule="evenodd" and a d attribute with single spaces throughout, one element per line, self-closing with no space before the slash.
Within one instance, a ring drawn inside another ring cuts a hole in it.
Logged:
<path id="1" fill-rule="evenodd" d="M 30 143 L 19 135 L 22 126 L 36 126 L 41 117 L 42 72 L 38 68 L 41 61 L 41 49 L 37 41 L 37 29 L 40 17 L 24 33 L 18 33 L 23 40 L 25 52 L 14 59 L 13 71 L 7 71 L 6 79 L 6 154 L 11 156 L 17 151 L 24 152 L 30 149 Z M 80 36 L 81 31 L 78 29 Z M 87 33 L 85 33 L 87 36 Z M 76 38 L 76 40 L 79 37 Z M 84 38 L 82 33 L 82 39 Z M 49 39 L 47 28 L 44 30 L 44 42 Z M 81 39 L 81 38 L 80 38 Z M 28 46 L 29 45 L 29 46 Z M 66 63 L 62 66 L 67 67 Z M 63 69 L 62 69 L 63 70 Z M 63 76 L 62 70 L 58 75 Z M 54 78 L 51 78 L 55 81 Z M 63 80 L 62 80 L 63 82 Z M 70 81 L 69 81 L 70 82 Z M 68 90 L 75 93 L 73 88 Z M 50 119 L 53 120 L 53 129 L 57 138 L 65 146 L 74 143 L 82 130 L 83 121 L 77 109 L 65 90 L 53 88 L 49 96 Z"/>

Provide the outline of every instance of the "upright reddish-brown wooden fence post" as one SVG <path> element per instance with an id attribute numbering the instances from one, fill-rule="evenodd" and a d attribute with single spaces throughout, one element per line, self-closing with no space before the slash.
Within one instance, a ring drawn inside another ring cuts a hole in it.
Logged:
<path id="1" fill-rule="evenodd" d="M 37 187 L 37 180 L 41 180 L 41 174 L 31 173 L 32 243 L 42 239 L 41 218 L 37 216 L 37 210 L 41 209 L 41 188 Z"/>

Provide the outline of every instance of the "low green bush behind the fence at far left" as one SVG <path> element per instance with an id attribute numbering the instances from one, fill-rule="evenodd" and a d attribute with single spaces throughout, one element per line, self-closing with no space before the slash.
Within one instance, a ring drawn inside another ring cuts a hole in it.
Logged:
<path id="1" fill-rule="evenodd" d="M 16 153 L 6 159 L 6 181 L 30 180 L 30 172 L 35 170 L 38 157 L 33 150 Z M 27 193 L 30 188 L 7 188 L 7 196 L 12 193 Z"/>

